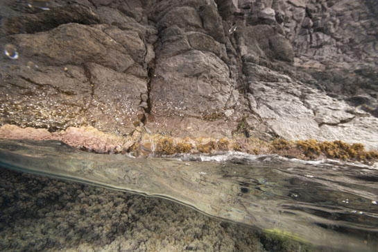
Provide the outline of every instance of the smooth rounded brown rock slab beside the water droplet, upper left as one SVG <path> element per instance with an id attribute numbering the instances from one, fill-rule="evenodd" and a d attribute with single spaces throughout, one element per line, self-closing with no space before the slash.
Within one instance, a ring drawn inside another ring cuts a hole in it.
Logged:
<path id="1" fill-rule="evenodd" d="M 133 64 L 128 51 L 101 31 L 101 26 L 63 24 L 47 33 L 14 35 L 12 42 L 23 51 L 24 57 L 49 65 L 79 65 L 94 61 L 124 71 Z"/>

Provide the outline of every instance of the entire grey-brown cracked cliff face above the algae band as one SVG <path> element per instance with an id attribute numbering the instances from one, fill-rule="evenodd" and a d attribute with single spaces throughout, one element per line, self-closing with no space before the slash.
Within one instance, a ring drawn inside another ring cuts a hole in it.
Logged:
<path id="1" fill-rule="evenodd" d="M 0 3 L 0 124 L 378 148 L 376 1 L 27 3 Z"/>

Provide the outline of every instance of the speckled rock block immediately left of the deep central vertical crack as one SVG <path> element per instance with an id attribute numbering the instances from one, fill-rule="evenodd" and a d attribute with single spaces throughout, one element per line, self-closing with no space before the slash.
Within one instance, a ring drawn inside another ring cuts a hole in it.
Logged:
<path id="1" fill-rule="evenodd" d="M 139 95 L 147 92 L 146 81 L 96 64 L 89 65 L 88 71 L 94 85 L 87 109 L 90 124 L 103 131 L 130 133 L 133 122 L 139 121 Z"/>

